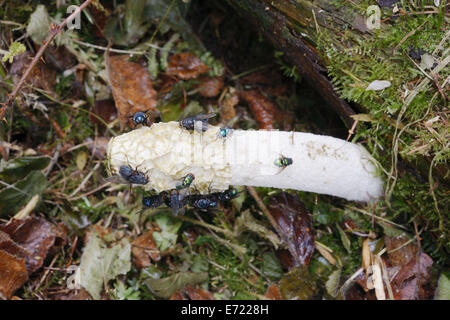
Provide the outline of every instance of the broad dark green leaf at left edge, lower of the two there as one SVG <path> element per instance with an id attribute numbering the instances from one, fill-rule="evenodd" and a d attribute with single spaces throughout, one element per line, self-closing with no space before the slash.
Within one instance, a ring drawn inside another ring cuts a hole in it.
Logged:
<path id="1" fill-rule="evenodd" d="M 16 213 L 30 199 L 40 195 L 47 185 L 47 178 L 40 171 L 32 171 L 24 179 L 0 192 L 0 217 Z"/>

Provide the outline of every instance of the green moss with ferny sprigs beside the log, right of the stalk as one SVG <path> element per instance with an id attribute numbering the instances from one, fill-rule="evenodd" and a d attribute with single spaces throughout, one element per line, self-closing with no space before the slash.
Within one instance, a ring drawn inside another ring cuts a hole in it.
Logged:
<path id="1" fill-rule="evenodd" d="M 339 7 L 342 1 L 335 3 Z M 359 4 L 361 13 L 371 4 L 369 1 Z M 449 173 L 448 168 L 436 170 L 436 164 L 448 162 L 449 146 L 444 142 L 448 129 L 444 122 L 437 121 L 434 130 L 429 130 L 424 123 L 436 116 L 442 117 L 440 112 L 446 102 L 432 84 L 417 93 L 409 105 L 404 93 L 413 91 L 425 78 L 408 57 L 409 50 L 421 48 L 431 54 L 444 38 L 445 30 L 440 29 L 440 15 L 394 18 L 388 10 L 382 14 L 382 19 L 386 16 L 389 19 L 380 30 L 375 30 L 373 37 L 356 39 L 354 32 L 344 33 L 341 41 L 347 47 L 342 49 L 330 46 L 336 35 L 321 29 L 318 48 L 328 60 L 329 75 L 341 96 L 357 103 L 374 120 L 370 124 L 359 124 L 353 141 L 363 142 L 384 172 L 393 174 L 391 179 L 385 175 L 387 198 L 379 211 L 386 211 L 391 219 L 402 217 L 402 223 L 419 221 L 425 227 L 425 233 L 430 233 L 425 238 L 434 239 L 434 247 L 439 248 L 430 253 L 444 262 L 450 251 L 449 223 L 445 214 L 449 208 L 448 192 L 445 191 Z M 413 30 L 417 31 L 406 37 Z M 394 48 L 396 53 L 392 54 Z M 438 58 L 442 61 L 442 57 Z M 448 68 L 442 70 L 440 78 L 447 78 L 449 73 Z M 383 91 L 366 91 L 367 85 L 374 80 L 389 80 L 392 85 Z M 407 130 L 401 131 L 405 127 Z M 433 169 L 431 179 L 430 166 Z"/>

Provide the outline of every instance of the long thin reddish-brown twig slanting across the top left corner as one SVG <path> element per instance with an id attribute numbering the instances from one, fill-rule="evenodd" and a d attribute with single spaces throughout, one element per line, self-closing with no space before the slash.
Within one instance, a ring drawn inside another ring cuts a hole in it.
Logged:
<path id="1" fill-rule="evenodd" d="M 45 49 L 50 45 L 52 40 L 56 37 L 58 33 L 61 32 L 61 30 L 67 25 L 69 21 L 72 21 L 76 15 L 79 15 L 81 11 L 86 8 L 89 3 L 91 3 L 92 0 L 86 0 L 83 2 L 81 6 L 79 6 L 71 15 L 69 15 L 66 19 L 64 19 L 63 22 L 61 22 L 58 25 L 51 25 L 50 26 L 50 33 L 48 34 L 47 38 L 45 38 L 44 42 L 42 42 L 42 46 L 39 48 L 39 51 L 34 56 L 33 60 L 31 61 L 31 64 L 28 66 L 25 73 L 22 75 L 22 78 L 20 78 L 19 82 L 14 87 L 13 91 L 8 95 L 8 99 L 5 103 L 2 103 L 3 107 L 0 109 L 0 120 L 4 118 L 6 111 L 8 110 L 8 107 L 12 104 L 15 97 L 17 96 L 17 93 L 19 92 L 20 88 L 22 88 L 23 84 L 25 83 L 25 80 L 30 75 L 33 68 L 36 66 L 39 59 L 44 54 Z"/>

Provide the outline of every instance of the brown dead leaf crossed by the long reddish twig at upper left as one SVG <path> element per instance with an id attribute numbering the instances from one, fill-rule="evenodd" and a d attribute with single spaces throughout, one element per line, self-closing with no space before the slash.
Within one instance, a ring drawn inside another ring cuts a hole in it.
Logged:
<path id="1" fill-rule="evenodd" d="M 14 57 L 14 62 L 9 69 L 9 74 L 12 76 L 14 82 L 18 82 L 22 77 L 25 70 L 28 68 L 32 60 L 29 51 L 21 53 Z M 26 83 L 31 84 L 33 87 L 44 89 L 46 91 L 54 92 L 56 83 L 56 71 L 50 68 L 43 59 L 36 63 L 36 66 L 31 70 L 30 75 L 27 77 Z M 24 88 L 25 91 L 29 90 Z M 24 90 L 22 89 L 22 91 Z"/>

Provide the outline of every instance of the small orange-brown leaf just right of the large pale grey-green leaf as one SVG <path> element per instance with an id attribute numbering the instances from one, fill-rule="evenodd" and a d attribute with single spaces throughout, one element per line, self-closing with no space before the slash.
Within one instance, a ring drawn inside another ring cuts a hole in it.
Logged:
<path id="1" fill-rule="evenodd" d="M 161 259 L 160 252 L 153 240 L 153 230 L 147 231 L 136 238 L 132 243 L 133 263 L 139 268 L 147 268 L 151 261 L 157 262 Z"/>

